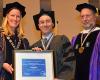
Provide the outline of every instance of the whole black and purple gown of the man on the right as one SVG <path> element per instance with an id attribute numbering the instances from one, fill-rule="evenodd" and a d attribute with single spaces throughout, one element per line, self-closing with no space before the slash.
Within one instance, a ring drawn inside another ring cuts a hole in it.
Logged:
<path id="1" fill-rule="evenodd" d="M 75 80 L 100 80 L 100 29 L 88 36 L 82 54 L 79 53 L 81 35 L 72 39 L 76 56 Z"/>

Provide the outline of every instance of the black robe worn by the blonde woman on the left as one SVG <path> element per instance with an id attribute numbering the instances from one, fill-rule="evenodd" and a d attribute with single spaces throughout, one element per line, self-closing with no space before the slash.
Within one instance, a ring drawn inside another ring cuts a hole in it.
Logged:
<path id="1" fill-rule="evenodd" d="M 9 42 L 9 40 L 7 39 L 6 36 L 4 36 L 5 38 L 5 55 L 4 55 L 4 63 L 8 63 L 8 64 L 12 64 L 13 66 L 13 50 L 14 48 L 12 47 L 11 43 Z M 14 43 L 14 45 L 16 46 L 18 44 L 19 38 L 18 36 L 11 36 L 10 37 L 12 42 Z M 21 44 L 18 48 L 20 49 L 29 49 L 29 42 L 26 38 L 22 38 L 21 39 Z M 7 72 L 6 70 L 4 70 L 2 68 L 1 70 L 1 77 L 5 78 L 4 80 L 13 80 L 13 74 L 11 75 L 9 72 Z M 0 79 L 2 80 L 2 79 Z"/>

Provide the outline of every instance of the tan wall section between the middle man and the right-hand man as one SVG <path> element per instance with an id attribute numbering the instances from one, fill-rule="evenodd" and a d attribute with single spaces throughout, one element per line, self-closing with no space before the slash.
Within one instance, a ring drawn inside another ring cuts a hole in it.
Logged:
<path id="1" fill-rule="evenodd" d="M 52 9 L 56 12 L 58 20 L 57 33 L 65 34 L 71 40 L 82 29 L 79 12 L 75 10 L 77 4 L 88 0 L 52 0 Z"/>

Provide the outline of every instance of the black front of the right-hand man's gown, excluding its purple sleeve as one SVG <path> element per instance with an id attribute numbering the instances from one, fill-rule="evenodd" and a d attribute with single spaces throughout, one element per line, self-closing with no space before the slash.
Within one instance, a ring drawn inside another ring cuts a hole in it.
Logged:
<path id="1" fill-rule="evenodd" d="M 86 39 L 82 54 L 79 53 L 81 43 L 81 33 L 77 36 L 74 43 L 74 52 L 76 55 L 75 80 L 89 80 L 90 61 L 94 50 L 94 45 L 100 30 L 93 31 Z M 84 34 L 85 37 L 87 34 Z"/>

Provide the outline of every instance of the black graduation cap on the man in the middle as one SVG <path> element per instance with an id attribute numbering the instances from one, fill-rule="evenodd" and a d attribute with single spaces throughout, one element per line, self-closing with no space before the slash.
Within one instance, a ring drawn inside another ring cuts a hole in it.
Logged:
<path id="1" fill-rule="evenodd" d="M 54 27 L 55 27 L 55 16 L 54 16 L 54 11 L 44 11 L 43 9 L 41 9 L 40 13 L 39 14 L 36 14 L 33 16 L 33 20 L 34 20 L 34 23 L 35 23 L 35 26 L 36 26 L 36 29 L 37 30 L 40 30 L 39 29 L 39 18 L 42 16 L 42 15 L 48 15 L 49 17 L 51 17 L 52 19 L 52 22 L 54 24 Z M 53 28 L 54 28 L 53 27 Z"/>

